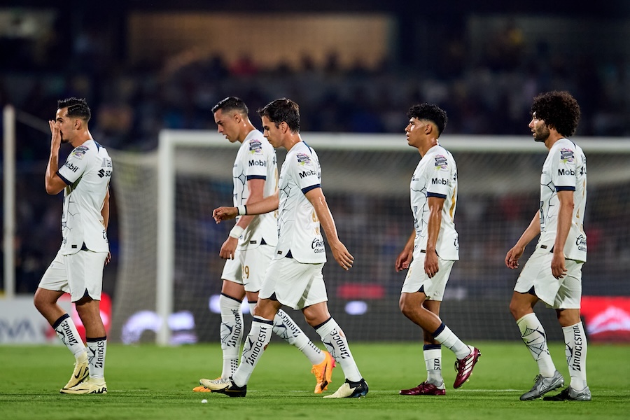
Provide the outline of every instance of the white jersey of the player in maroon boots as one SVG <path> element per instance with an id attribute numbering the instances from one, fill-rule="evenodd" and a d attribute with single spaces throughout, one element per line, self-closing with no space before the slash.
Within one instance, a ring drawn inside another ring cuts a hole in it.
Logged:
<path id="1" fill-rule="evenodd" d="M 444 198 L 442 225 L 435 251 L 444 260 L 459 259 L 459 242 L 455 230 L 457 204 L 457 167 L 453 155 L 437 144 L 422 157 L 411 181 L 411 207 L 414 214 L 414 251 L 426 249 L 428 197 Z"/>

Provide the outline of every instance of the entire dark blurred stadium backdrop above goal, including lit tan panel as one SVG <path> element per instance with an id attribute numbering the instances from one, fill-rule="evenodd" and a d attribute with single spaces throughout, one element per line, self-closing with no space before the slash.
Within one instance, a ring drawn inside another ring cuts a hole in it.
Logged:
<path id="1" fill-rule="evenodd" d="M 582 108 L 578 136 L 628 141 L 630 2 L 482 3 L 3 1 L 0 104 L 18 117 L 16 291 L 34 293 L 59 248 L 61 198 L 45 194 L 43 173 L 45 120 L 64 97 L 87 99 L 99 143 L 134 153 L 155 151 L 161 130 L 215 131 L 211 107 L 230 95 L 257 126 L 254 111 L 284 96 L 300 104 L 302 132 L 402 135 L 409 106 L 432 102 L 448 113 L 446 134 L 490 137 L 527 135 L 532 98 L 568 90 Z M 113 190 L 111 296 L 117 197 Z"/>

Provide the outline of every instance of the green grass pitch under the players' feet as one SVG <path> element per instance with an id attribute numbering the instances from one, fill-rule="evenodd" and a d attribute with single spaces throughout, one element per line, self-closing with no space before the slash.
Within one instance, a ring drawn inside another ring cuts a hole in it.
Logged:
<path id="1" fill-rule="evenodd" d="M 351 342 L 370 385 L 365 398 L 324 400 L 315 395 L 311 365 L 291 346 L 273 341 L 262 356 L 246 398 L 193 393 L 201 377 L 221 370 L 218 344 L 158 347 L 110 344 L 107 395 L 59 393 L 73 358 L 62 346 L 0 346 L 0 419 L 629 419 L 630 346 L 591 344 L 590 402 L 520 401 L 538 373 L 519 342 L 470 342 L 482 351 L 470 381 L 452 388 L 454 356 L 444 349 L 447 395 L 402 396 L 400 388 L 426 377 L 420 343 Z M 550 351 L 568 383 L 561 343 Z M 335 368 L 325 394 L 343 381 Z M 202 404 L 202 399 L 207 404 Z"/>

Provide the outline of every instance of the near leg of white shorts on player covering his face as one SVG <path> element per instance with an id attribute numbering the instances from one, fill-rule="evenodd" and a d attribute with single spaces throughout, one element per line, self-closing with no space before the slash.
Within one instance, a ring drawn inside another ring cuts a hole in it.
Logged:
<path id="1" fill-rule="evenodd" d="M 64 255 L 72 302 L 84 296 L 101 300 L 103 268 L 107 254 L 106 252 L 78 251 L 78 253 Z"/>

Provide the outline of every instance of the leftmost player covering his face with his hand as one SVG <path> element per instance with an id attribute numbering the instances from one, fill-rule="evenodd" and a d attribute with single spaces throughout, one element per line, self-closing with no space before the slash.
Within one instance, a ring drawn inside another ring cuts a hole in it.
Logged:
<path id="1" fill-rule="evenodd" d="M 57 102 L 55 120 L 48 121 L 52 139 L 45 173 L 46 192 L 64 191 L 62 244 L 35 292 L 34 304 L 76 358 L 74 371 L 62 393 L 107 393 L 104 365 L 106 331 L 99 304 L 103 268 L 109 262 L 109 181 L 111 158 L 92 139 L 87 128 L 90 107 L 85 99 Z M 59 146 L 74 148 L 59 168 Z M 87 346 L 78 335 L 72 318 L 57 304 L 64 293 L 85 325 Z"/>

